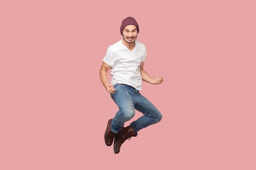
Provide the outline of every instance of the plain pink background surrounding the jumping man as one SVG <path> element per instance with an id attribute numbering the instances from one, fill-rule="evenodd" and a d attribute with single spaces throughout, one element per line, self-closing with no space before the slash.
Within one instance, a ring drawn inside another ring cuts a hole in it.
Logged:
<path id="1" fill-rule="evenodd" d="M 256 170 L 255 7 L 2 0 L 0 170 Z M 147 47 L 145 70 L 164 77 L 141 91 L 163 119 L 114 154 L 103 135 L 117 106 L 98 71 L 128 16 Z"/>

